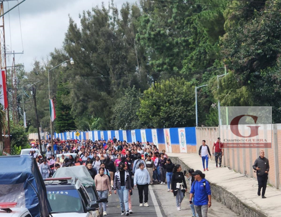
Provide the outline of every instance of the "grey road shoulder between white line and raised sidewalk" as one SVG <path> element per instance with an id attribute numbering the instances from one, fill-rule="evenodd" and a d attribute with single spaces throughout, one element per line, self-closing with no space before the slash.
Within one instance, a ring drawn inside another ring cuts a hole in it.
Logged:
<path id="1" fill-rule="evenodd" d="M 167 192 L 166 185 L 152 185 L 153 191 L 161 209 L 163 209 L 165 216 L 170 217 L 186 217 L 192 216 L 191 208 L 189 206 L 189 185 L 187 193 L 182 202 L 182 210 L 178 211 L 176 206 L 176 197 L 171 192 Z M 164 215 L 163 215 L 164 216 Z M 237 215 L 224 206 L 222 203 L 212 200 L 212 206 L 208 209 L 208 217 L 236 217 Z"/>

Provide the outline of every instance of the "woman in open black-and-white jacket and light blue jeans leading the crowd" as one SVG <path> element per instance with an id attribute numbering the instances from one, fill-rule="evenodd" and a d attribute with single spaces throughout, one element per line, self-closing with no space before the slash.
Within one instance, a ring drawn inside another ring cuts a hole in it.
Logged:
<path id="1" fill-rule="evenodd" d="M 125 164 L 122 162 L 119 163 L 119 170 L 115 172 L 113 186 L 114 186 L 114 193 L 116 194 L 116 191 L 118 192 L 121 215 L 129 215 L 128 197 L 129 197 L 129 193 L 131 193 L 132 191 L 132 186 L 131 186 L 131 178 L 129 177 L 129 173 L 124 168 L 125 168 Z"/>

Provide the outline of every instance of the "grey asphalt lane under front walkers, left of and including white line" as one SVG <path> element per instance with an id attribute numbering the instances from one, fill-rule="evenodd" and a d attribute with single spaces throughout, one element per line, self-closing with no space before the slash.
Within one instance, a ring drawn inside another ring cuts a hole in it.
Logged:
<path id="1" fill-rule="evenodd" d="M 121 209 L 120 209 L 120 203 L 119 203 L 119 198 L 118 194 L 114 194 L 114 191 L 112 191 L 113 194 L 109 196 L 109 203 L 108 207 L 106 209 L 107 216 L 118 216 L 121 215 Z M 139 194 L 138 194 L 138 189 L 135 188 L 133 190 L 133 196 L 132 196 L 132 210 L 134 214 L 130 214 L 129 216 L 134 216 L 134 217 L 143 217 L 144 215 L 147 215 L 149 217 L 162 217 L 162 213 L 157 206 L 157 201 L 155 199 L 155 195 L 152 195 L 152 188 L 149 186 L 149 193 L 148 193 L 148 204 L 149 207 L 142 206 L 140 207 L 139 205 Z M 154 205 L 156 203 L 156 206 Z M 156 209 L 158 210 L 158 213 L 156 212 Z"/>

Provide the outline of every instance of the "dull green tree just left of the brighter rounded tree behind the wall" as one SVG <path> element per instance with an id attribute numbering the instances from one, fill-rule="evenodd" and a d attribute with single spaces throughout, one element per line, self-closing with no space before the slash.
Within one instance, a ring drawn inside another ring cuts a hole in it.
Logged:
<path id="1" fill-rule="evenodd" d="M 136 129 L 141 128 L 137 112 L 140 106 L 142 94 L 135 86 L 126 89 L 124 95 L 116 100 L 113 108 L 112 125 L 114 129 Z"/>

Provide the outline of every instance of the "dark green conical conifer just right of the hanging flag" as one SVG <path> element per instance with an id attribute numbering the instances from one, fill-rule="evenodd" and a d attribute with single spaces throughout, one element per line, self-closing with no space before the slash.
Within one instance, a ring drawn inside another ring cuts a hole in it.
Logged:
<path id="1" fill-rule="evenodd" d="M 56 120 L 55 129 L 57 132 L 64 132 L 76 129 L 74 118 L 70 114 L 71 108 L 68 104 L 63 103 L 63 98 L 69 94 L 65 89 L 67 83 L 60 83 L 56 94 Z"/>

